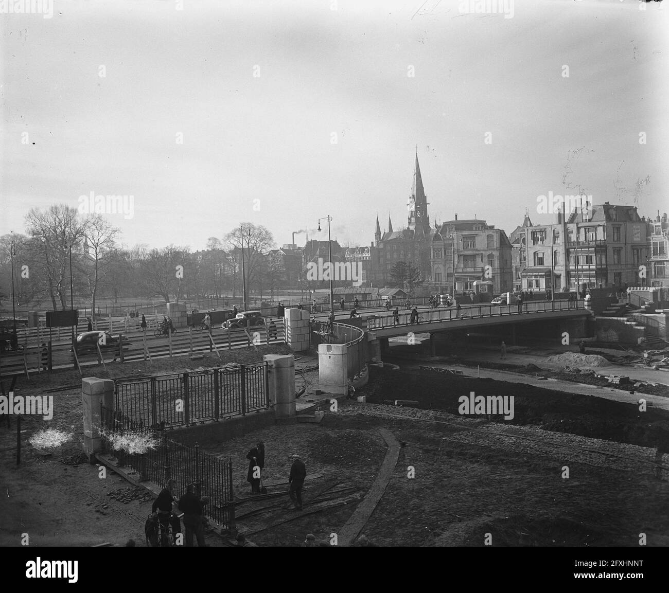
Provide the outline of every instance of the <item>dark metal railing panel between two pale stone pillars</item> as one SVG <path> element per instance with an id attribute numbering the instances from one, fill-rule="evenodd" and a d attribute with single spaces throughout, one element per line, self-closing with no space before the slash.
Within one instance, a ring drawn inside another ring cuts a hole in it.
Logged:
<path id="1" fill-rule="evenodd" d="M 266 362 L 114 382 L 115 409 L 130 422 L 166 428 L 270 406 Z"/>

